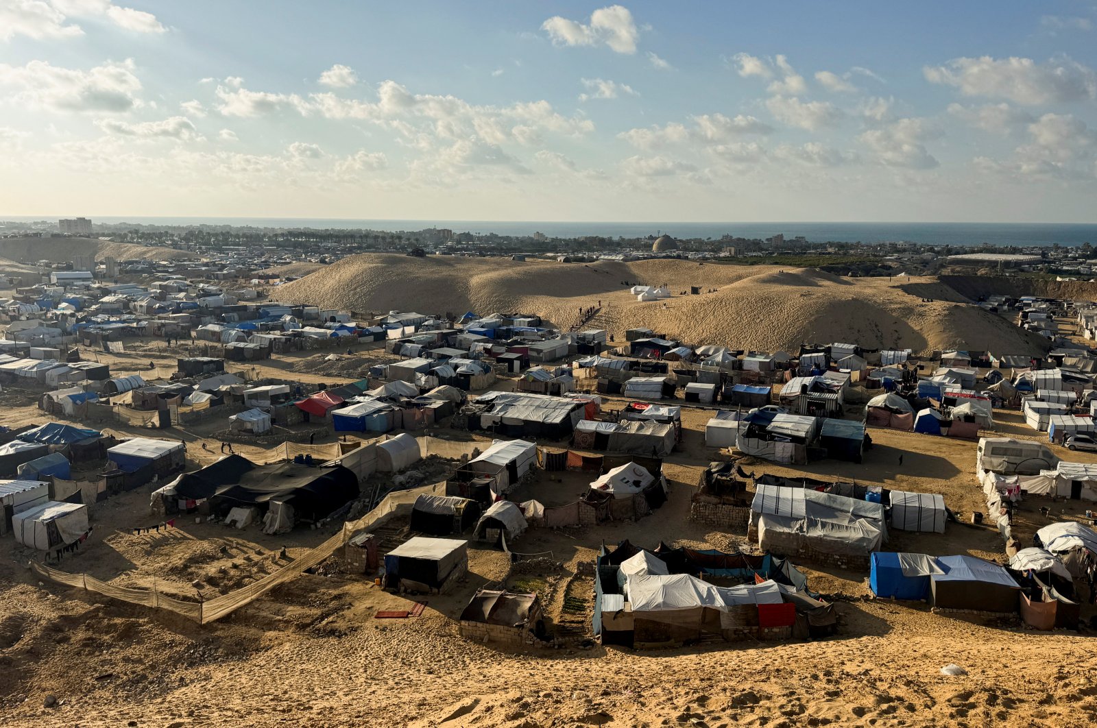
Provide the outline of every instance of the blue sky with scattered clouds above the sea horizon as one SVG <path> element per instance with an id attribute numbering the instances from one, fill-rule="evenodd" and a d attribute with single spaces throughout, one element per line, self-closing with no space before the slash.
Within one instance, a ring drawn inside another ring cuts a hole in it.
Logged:
<path id="1" fill-rule="evenodd" d="M 1095 41 L 1093 0 L 0 0 L 0 215 L 1093 223 Z"/>

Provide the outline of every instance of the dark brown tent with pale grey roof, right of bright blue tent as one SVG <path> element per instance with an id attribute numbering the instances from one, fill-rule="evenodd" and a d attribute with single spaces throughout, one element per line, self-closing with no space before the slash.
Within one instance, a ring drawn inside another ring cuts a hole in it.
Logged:
<path id="1" fill-rule="evenodd" d="M 945 610 L 1016 612 L 1020 585 L 997 564 L 974 556 L 942 556 L 945 573 L 930 576 L 932 604 Z"/>

